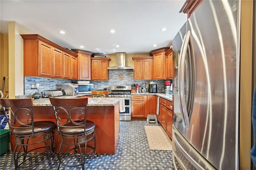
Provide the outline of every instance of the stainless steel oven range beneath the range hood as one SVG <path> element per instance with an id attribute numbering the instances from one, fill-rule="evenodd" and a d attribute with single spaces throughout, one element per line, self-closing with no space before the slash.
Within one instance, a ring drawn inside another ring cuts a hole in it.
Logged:
<path id="1" fill-rule="evenodd" d="M 111 86 L 111 92 L 108 94 L 108 97 L 118 97 L 120 100 L 122 99 L 124 103 L 124 112 L 120 112 L 120 121 L 130 121 L 132 112 L 131 112 L 131 86 Z M 122 104 L 121 102 L 119 102 Z"/>

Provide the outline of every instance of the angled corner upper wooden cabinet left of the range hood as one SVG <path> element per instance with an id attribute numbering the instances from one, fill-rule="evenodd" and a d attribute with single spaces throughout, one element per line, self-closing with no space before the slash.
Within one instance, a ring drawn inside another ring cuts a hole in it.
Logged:
<path id="1" fill-rule="evenodd" d="M 73 50 L 78 54 L 78 79 L 91 79 L 91 56 L 92 53 L 87 51 Z"/>

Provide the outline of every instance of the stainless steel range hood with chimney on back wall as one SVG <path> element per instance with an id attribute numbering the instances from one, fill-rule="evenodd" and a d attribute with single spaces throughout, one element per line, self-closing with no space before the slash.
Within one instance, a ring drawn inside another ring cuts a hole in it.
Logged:
<path id="1" fill-rule="evenodd" d="M 116 66 L 108 67 L 109 70 L 133 70 L 132 67 L 126 66 L 126 53 L 116 53 Z"/>

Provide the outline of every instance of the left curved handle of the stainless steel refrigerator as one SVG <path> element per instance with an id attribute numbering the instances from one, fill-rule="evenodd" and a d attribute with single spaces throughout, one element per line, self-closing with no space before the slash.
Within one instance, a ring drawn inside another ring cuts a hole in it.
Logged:
<path id="1" fill-rule="evenodd" d="M 182 115 L 184 117 L 184 121 L 186 123 L 186 127 L 189 127 L 189 120 L 188 120 L 188 110 L 187 110 L 187 105 L 186 105 L 186 100 L 184 97 L 184 67 L 185 67 L 185 62 L 186 62 L 186 54 L 188 50 L 188 45 L 189 45 L 189 40 L 190 40 L 190 31 L 187 32 L 186 38 L 184 40 L 184 45 L 182 49 L 182 55 L 180 59 L 180 71 L 179 71 L 179 94 L 180 94 L 180 109 L 182 111 Z"/>

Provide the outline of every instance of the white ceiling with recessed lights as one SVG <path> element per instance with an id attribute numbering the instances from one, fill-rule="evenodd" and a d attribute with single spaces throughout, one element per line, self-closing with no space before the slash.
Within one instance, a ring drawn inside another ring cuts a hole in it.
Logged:
<path id="1" fill-rule="evenodd" d="M 185 0 L 0 0 L 0 32 L 8 34 L 8 21 L 15 21 L 31 33 L 70 49 L 106 54 L 149 53 L 172 45 L 186 22 L 187 15 L 179 13 L 184 3 Z M 167 28 L 165 32 L 160 31 L 163 27 Z M 116 32 L 111 34 L 111 29 Z M 60 30 L 66 34 L 60 34 Z"/>

